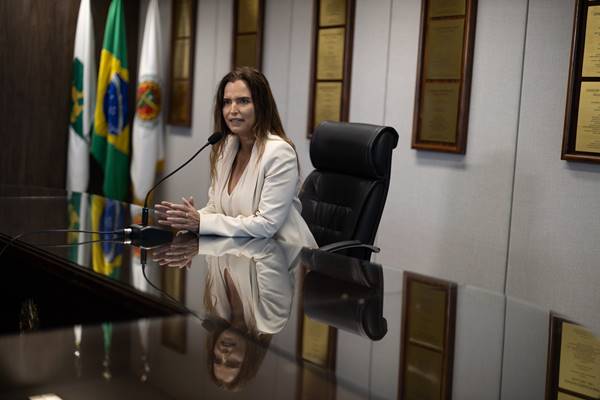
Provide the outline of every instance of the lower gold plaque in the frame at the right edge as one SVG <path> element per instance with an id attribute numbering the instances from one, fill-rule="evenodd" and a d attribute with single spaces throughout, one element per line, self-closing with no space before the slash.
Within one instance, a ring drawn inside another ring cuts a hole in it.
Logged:
<path id="1" fill-rule="evenodd" d="M 575 150 L 600 153 L 600 82 L 581 82 Z"/>

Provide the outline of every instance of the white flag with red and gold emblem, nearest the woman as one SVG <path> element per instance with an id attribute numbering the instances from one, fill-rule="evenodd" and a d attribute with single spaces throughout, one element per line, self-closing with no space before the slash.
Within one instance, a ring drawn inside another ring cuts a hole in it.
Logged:
<path id="1" fill-rule="evenodd" d="M 158 0 L 151 0 L 144 26 L 131 145 L 133 201 L 138 204 L 143 203 L 164 164 L 161 52 Z"/>

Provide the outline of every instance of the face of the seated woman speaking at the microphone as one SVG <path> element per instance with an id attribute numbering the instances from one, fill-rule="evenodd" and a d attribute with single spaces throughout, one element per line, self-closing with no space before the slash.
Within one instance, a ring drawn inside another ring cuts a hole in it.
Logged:
<path id="1" fill-rule="evenodd" d="M 252 137 L 256 121 L 252 94 L 242 80 L 225 85 L 223 118 L 229 130 L 239 137 Z"/>

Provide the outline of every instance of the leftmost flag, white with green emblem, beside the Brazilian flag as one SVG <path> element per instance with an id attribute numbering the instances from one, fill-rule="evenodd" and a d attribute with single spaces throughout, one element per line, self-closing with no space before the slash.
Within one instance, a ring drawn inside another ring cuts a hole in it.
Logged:
<path id="1" fill-rule="evenodd" d="M 82 0 L 75 31 L 69 100 L 67 190 L 85 192 L 89 180 L 90 134 L 96 107 L 96 59 L 90 0 Z"/>

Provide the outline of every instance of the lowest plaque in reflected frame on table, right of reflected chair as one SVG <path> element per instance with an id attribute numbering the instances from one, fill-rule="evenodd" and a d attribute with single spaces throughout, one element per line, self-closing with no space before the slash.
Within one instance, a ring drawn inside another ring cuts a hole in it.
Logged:
<path id="1" fill-rule="evenodd" d="M 442 395 L 442 353 L 414 344 L 406 347 L 405 400 L 438 400 Z"/>

